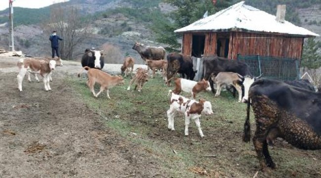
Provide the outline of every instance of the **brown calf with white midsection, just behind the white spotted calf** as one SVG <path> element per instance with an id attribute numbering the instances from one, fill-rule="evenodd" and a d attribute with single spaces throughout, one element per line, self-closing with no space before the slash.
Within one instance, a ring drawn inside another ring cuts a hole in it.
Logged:
<path id="1" fill-rule="evenodd" d="M 204 79 L 201 82 L 195 82 L 195 81 L 191 81 L 191 80 L 187 80 L 187 79 L 173 77 L 173 78 L 169 79 L 168 81 L 170 81 L 172 79 L 175 80 L 174 81 L 175 89 L 173 90 L 173 92 L 175 94 L 179 94 L 183 90 L 185 92 L 191 93 L 191 98 L 195 99 L 197 93 L 199 93 L 203 90 L 211 91 L 211 88 L 209 86 L 209 82 L 205 81 Z"/>

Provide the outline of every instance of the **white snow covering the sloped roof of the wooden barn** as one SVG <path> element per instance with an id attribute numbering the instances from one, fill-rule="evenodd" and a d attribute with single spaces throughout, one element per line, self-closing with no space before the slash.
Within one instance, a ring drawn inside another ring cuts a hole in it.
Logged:
<path id="1" fill-rule="evenodd" d="M 236 3 L 213 15 L 200 19 L 174 32 L 226 31 L 244 29 L 253 32 L 281 33 L 299 36 L 319 36 L 305 28 L 285 21 L 276 21 L 276 16 L 245 5 L 244 1 Z"/>

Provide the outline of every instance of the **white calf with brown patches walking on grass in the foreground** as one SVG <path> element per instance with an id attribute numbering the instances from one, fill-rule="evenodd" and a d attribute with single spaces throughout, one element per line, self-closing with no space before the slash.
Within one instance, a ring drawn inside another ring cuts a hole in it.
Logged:
<path id="1" fill-rule="evenodd" d="M 201 114 L 211 115 L 213 114 L 212 105 L 209 101 L 200 99 L 199 102 L 187 99 L 183 96 L 177 95 L 172 90 L 168 91 L 170 95 L 170 106 L 167 110 L 168 126 L 167 128 L 171 131 L 174 131 L 174 117 L 176 113 L 181 113 L 185 115 L 185 135 L 188 135 L 188 126 L 190 120 L 194 120 L 195 124 L 199 130 L 201 137 L 204 137 L 204 134 L 201 130 L 200 117 Z"/>

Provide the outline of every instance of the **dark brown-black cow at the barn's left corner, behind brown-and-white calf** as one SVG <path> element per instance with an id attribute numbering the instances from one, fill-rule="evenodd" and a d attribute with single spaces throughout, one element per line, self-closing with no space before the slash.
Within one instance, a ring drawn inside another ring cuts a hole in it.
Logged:
<path id="1" fill-rule="evenodd" d="M 188 80 L 194 80 L 197 71 L 193 70 L 193 60 L 191 56 L 171 52 L 167 55 L 167 79 L 175 77 L 177 73 Z M 169 83 L 167 83 L 169 86 Z"/>

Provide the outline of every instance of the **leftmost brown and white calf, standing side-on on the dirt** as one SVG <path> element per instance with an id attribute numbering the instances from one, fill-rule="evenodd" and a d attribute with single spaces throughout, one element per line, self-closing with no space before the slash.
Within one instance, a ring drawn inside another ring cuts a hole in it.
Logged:
<path id="1" fill-rule="evenodd" d="M 49 76 L 51 75 L 52 70 L 56 68 L 55 60 L 46 61 L 33 58 L 23 58 L 18 61 L 17 66 L 19 68 L 19 74 L 17 75 L 19 91 L 22 91 L 22 80 L 27 72 L 28 74 L 40 74 L 40 76 L 43 77 L 44 89 L 46 91 L 51 90 L 49 85 Z"/>

